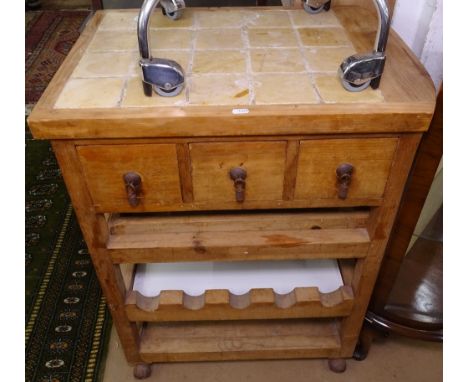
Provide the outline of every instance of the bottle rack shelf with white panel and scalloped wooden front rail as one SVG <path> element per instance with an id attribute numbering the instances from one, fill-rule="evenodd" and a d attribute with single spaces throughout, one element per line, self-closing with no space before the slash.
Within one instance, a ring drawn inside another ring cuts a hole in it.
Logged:
<path id="1" fill-rule="evenodd" d="M 137 322 L 343 317 L 354 305 L 352 288 L 343 286 L 337 262 L 330 259 L 136 269 L 126 314 Z"/>

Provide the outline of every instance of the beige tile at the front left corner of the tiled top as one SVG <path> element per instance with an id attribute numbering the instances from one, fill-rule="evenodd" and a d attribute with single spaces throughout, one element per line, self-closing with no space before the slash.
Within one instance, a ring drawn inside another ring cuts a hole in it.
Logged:
<path id="1" fill-rule="evenodd" d="M 124 85 L 122 78 L 71 79 L 57 102 L 56 109 L 117 107 Z"/>

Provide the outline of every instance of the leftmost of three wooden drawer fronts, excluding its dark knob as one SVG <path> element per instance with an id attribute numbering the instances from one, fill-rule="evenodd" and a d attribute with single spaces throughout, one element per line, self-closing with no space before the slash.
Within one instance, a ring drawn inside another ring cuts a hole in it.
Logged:
<path id="1" fill-rule="evenodd" d="M 175 145 L 78 146 L 77 152 L 99 212 L 151 211 L 182 202 Z M 129 202 L 125 186 L 128 172 L 141 178 L 136 206 Z"/>

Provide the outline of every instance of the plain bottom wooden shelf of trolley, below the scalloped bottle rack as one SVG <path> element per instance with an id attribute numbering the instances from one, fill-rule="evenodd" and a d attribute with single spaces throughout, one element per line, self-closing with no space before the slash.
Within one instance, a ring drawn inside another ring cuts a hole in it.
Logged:
<path id="1" fill-rule="evenodd" d="M 337 356 L 336 320 L 238 321 L 148 324 L 142 331 L 144 362 L 286 359 Z"/>

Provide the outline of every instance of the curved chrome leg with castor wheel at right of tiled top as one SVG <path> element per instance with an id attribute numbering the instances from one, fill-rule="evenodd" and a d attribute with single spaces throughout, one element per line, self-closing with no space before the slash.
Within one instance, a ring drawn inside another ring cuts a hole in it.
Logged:
<path id="1" fill-rule="evenodd" d="M 379 27 L 374 44 L 374 51 L 368 54 L 355 54 L 346 58 L 338 74 L 346 90 L 358 92 L 369 85 L 377 89 L 380 85 L 385 66 L 385 49 L 390 33 L 390 10 L 387 0 L 374 0 L 379 16 Z"/>

